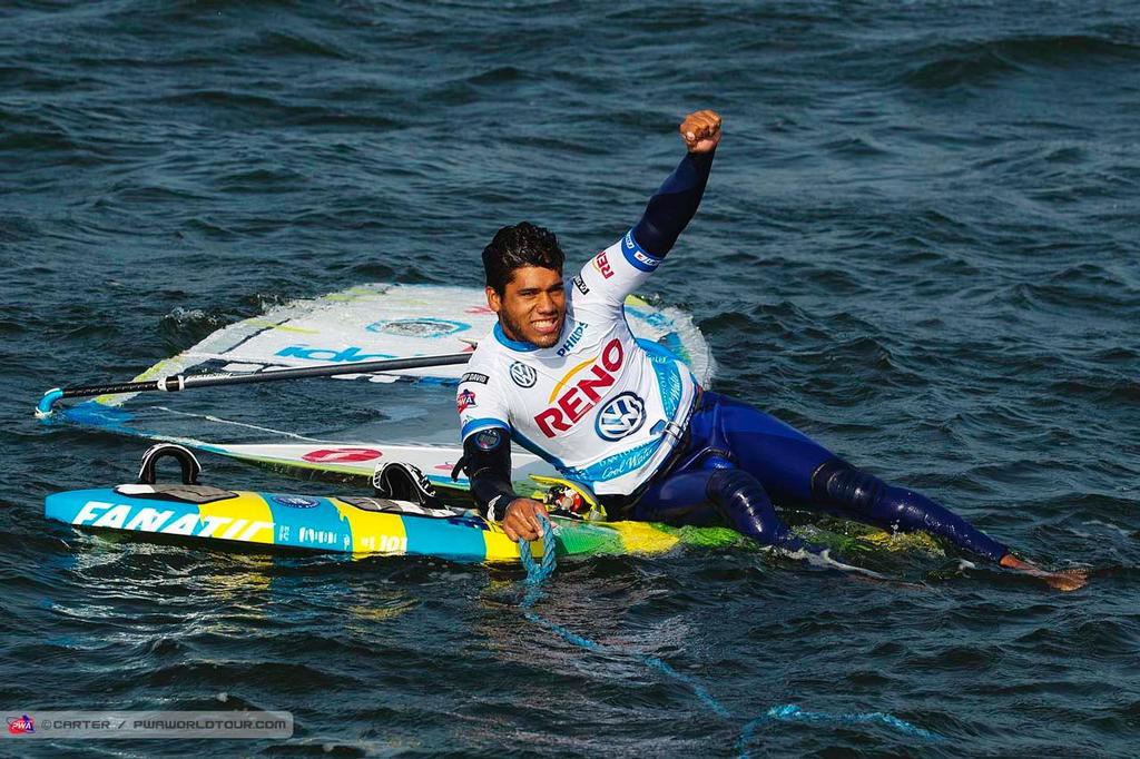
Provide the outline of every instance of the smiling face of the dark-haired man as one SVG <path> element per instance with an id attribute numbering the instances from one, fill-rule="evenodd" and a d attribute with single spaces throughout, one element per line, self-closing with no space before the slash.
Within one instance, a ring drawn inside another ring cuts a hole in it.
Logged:
<path id="1" fill-rule="evenodd" d="M 562 272 L 544 267 L 520 267 L 512 272 L 500 296 L 487 288 L 487 305 L 498 315 L 503 333 L 511 340 L 551 348 L 559 342 L 567 316 Z"/>

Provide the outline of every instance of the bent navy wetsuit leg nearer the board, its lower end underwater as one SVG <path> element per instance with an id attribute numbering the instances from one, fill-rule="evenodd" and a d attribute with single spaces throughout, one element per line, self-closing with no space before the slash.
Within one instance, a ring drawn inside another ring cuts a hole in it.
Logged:
<path id="1" fill-rule="evenodd" d="M 723 460 L 654 482 L 634 505 L 629 516 L 640 522 L 676 525 L 727 524 L 764 545 L 787 550 L 805 547 L 776 516 L 756 478 L 728 468 Z"/>

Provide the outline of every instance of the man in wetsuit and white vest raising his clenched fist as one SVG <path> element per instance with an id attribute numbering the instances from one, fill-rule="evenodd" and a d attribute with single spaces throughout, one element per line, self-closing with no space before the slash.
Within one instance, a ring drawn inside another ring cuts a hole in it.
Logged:
<path id="1" fill-rule="evenodd" d="M 511 442 L 591 488 L 611 519 L 723 522 L 787 552 L 814 550 L 776 516 L 769 497 L 888 530 L 926 530 L 1060 589 L 1048 573 L 926 496 L 888 485 L 779 419 L 702 390 L 659 345 L 634 338 L 627 294 L 660 266 L 697 212 L 720 117 L 698 111 L 687 154 L 620 240 L 570 283 L 555 236 L 522 222 L 483 251 L 487 303 L 498 315 L 457 391 L 464 468 L 477 504 L 512 538 L 540 533 L 544 506 L 511 485 Z"/>

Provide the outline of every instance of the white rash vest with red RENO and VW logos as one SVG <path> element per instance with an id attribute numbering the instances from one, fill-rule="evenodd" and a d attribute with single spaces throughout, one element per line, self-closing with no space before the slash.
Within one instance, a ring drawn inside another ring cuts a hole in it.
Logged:
<path id="1" fill-rule="evenodd" d="M 502 427 L 597 495 L 627 495 L 668 458 L 695 401 L 689 368 L 629 332 L 626 295 L 661 263 L 633 231 L 567 283 L 567 318 L 552 348 L 510 340 L 500 325 L 479 343 L 456 407 L 466 440 Z"/>

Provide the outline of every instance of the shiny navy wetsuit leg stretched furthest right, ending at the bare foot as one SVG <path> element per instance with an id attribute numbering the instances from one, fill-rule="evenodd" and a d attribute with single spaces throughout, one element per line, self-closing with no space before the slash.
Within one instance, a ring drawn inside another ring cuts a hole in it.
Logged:
<path id="1" fill-rule="evenodd" d="M 712 402 L 736 464 L 775 498 L 886 530 L 923 530 L 993 561 L 1008 553 L 944 506 L 856 470 L 775 417 L 723 395 Z"/>

